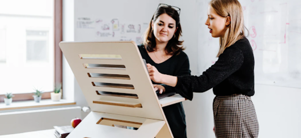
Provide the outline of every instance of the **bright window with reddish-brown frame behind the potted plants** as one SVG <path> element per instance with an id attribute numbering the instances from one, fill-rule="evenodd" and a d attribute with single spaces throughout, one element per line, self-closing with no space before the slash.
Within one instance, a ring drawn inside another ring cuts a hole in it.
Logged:
<path id="1" fill-rule="evenodd" d="M 62 82 L 62 0 L 0 1 L 0 20 L 0 102 L 33 99 L 33 88 L 50 98 Z"/>

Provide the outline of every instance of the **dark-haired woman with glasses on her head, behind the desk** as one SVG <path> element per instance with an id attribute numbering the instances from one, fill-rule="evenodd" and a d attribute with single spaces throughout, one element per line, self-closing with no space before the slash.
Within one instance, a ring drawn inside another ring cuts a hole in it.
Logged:
<path id="1" fill-rule="evenodd" d="M 183 52 L 183 41 L 179 41 L 182 30 L 179 8 L 159 4 L 144 33 L 144 43 L 138 46 L 142 58 L 161 73 L 172 76 L 190 75 L 188 56 Z M 173 87 L 154 83 L 155 90 L 175 91 Z M 187 138 L 185 112 L 182 103 L 163 107 L 169 127 L 175 138 Z"/>

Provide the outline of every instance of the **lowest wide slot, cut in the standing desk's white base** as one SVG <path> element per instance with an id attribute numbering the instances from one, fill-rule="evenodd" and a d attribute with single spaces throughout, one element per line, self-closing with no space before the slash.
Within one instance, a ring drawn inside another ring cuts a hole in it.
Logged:
<path id="1" fill-rule="evenodd" d="M 101 118 L 96 124 L 107 125 L 107 126 L 118 127 L 118 128 L 133 127 L 134 130 L 138 130 L 142 125 L 142 123 L 139 122 L 124 121 L 124 120 L 109 119 L 109 118 Z"/>

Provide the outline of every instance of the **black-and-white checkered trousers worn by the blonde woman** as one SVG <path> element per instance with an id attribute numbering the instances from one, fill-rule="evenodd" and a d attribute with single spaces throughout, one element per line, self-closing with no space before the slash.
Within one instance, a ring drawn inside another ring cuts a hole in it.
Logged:
<path id="1" fill-rule="evenodd" d="M 216 138 L 257 138 L 259 125 L 250 96 L 216 96 L 213 101 Z"/>

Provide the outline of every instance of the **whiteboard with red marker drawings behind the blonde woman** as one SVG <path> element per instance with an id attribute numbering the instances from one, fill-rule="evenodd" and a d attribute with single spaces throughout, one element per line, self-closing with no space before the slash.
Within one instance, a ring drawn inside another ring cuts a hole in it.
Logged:
<path id="1" fill-rule="evenodd" d="M 239 0 L 255 58 L 255 83 L 301 88 L 301 1 Z M 209 0 L 198 1 L 199 70 L 215 61 L 219 39 L 205 25 Z"/>

